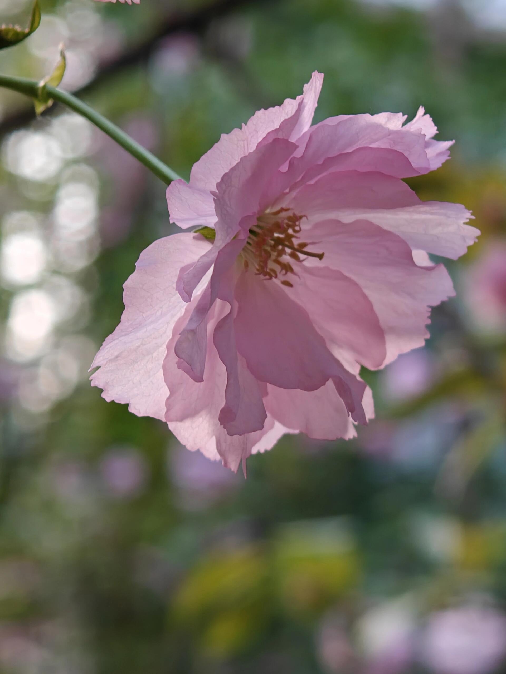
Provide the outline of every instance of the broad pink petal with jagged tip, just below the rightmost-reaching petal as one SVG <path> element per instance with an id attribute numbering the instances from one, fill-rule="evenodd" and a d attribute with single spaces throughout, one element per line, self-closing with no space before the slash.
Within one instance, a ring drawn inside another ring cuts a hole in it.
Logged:
<path id="1" fill-rule="evenodd" d="M 355 280 L 372 302 L 387 340 L 383 365 L 423 346 L 429 307 L 455 295 L 443 265 L 418 266 L 401 237 L 366 220 L 326 220 L 306 235 L 320 242 L 325 264 Z"/>

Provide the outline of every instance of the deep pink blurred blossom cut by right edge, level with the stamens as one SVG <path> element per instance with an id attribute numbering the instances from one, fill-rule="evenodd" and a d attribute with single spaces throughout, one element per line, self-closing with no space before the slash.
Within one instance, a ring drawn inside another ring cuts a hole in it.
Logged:
<path id="1" fill-rule="evenodd" d="M 482 332 L 506 332 L 506 242 L 490 241 L 464 277 L 464 297 Z"/>

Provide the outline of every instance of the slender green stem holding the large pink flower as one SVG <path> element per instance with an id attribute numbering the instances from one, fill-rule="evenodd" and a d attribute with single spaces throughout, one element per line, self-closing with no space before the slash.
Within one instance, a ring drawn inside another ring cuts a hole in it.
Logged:
<path id="1" fill-rule="evenodd" d="M 35 80 L 27 80 L 26 78 L 13 78 L 8 75 L 0 75 L 0 87 L 11 89 L 17 91 L 20 94 L 25 94 L 25 96 L 30 96 L 30 98 L 35 98 L 38 100 L 40 97 L 40 88 L 39 83 Z M 121 131 L 119 127 L 110 122 L 108 119 L 105 119 L 102 115 L 94 111 L 90 106 L 83 103 L 81 100 L 72 96 L 61 89 L 57 89 L 53 86 L 45 86 L 45 94 L 49 98 L 53 98 L 60 103 L 63 103 L 70 109 L 72 109 L 78 115 L 86 117 L 92 124 L 96 127 L 99 127 L 104 133 L 107 133 L 118 145 L 130 152 L 132 156 L 138 159 L 146 168 L 154 173 L 165 185 L 169 185 L 173 180 L 179 179 L 179 175 L 172 171 L 169 166 L 164 164 L 161 160 L 154 156 L 151 152 L 143 148 L 141 145 L 136 143 L 133 138 L 127 135 L 124 131 Z"/>

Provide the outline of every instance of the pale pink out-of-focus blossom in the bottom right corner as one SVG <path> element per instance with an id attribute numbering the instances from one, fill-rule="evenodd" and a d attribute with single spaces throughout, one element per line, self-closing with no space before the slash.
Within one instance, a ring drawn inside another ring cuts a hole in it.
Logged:
<path id="1" fill-rule="evenodd" d="M 506 656 L 506 616 L 473 606 L 435 613 L 420 654 L 437 674 L 488 674 Z"/>

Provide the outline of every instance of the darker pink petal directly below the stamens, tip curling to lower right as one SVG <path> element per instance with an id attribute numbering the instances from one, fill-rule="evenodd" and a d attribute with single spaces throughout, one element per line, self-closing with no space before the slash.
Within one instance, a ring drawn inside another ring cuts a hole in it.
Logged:
<path id="1" fill-rule="evenodd" d="M 235 286 L 235 340 L 256 379 L 314 391 L 332 379 L 352 419 L 365 422 L 365 385 L 333 357 L 305 309 L 282 286 L 241 274 Z"/>

